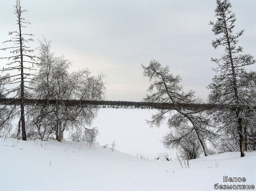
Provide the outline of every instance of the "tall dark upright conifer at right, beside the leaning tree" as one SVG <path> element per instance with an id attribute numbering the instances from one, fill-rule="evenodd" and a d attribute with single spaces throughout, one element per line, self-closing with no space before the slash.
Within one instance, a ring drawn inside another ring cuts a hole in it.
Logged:
<path id="1" fill-rule="evenodd" d="M 236 19 L 235 14 L 230 11 L 229 0 L 217 0 L 216 3 L 217 21 L 210 24 L 214 34 L 219 37 L 212 41 L 212 46 L 215 49 L 219 46 L 225 47 L 225 53 L 221 58 L 212 58 L 218 67 L 214 69 L 217 75 L 208 86 L 211 89 L 209 100 L 225 106 L 223 110 L 216 110 L 218 115 L 216 122 L 221 124 L 219 128 L 226 133 L 237 132 L 240 153 L 243 157 L 245 155 L 245 123 L 248 120 L 251 121 L 247 114 L 253 113 L 252 106 L 253 102 L 255 103 L 255 89 L 252 86 L 246 86 L 246 81 L 249 83 L 255 79 L 253 79 L 253 72 L 246 72 L 245 66 L 255 64 L 255 60 L 249 54 L 240 55 L 242 47 L 237 46 L 237 43 L 244 30 L 233 34 Z"/>

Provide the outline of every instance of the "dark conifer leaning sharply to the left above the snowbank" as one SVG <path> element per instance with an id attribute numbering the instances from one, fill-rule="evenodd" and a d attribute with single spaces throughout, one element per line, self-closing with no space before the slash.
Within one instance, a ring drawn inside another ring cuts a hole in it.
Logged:
<path id="1" fill-rule="evenodd" d="M 151 85 L 148 88 L 149 92 L 154 92 L 147 95 L 144 99 L 146 102 L 166 103 L 166 108 L 160 109 L 155 115 L 152 115 L 152 121 L 148 121 L 151 125 L 160 126 L 166 118 L 166 114 L 170 114 L 168 119 L 168 127 L 174 133 L 164 137 L 164 145 L 166 147 L 178 148 L 186 138 L 191 138 L 190 135 L 196 135 L 194 139 L 200 142 L 204 155 L 209 155 L 205 138 L 214 135 L 208 129 L 209 119 L 204 116 L 205 108 L 190 108 L 188 104 L 202 103 L 198 98 L 194 97 L 194 92 L 185 93 L 181 82 L 181 77 L 174 76 L 169 73 L 168 66 L 162 67 L 159 62 L 152 60 L 148 66 L 143 66 L 144 76 L 149 77 Z"/>

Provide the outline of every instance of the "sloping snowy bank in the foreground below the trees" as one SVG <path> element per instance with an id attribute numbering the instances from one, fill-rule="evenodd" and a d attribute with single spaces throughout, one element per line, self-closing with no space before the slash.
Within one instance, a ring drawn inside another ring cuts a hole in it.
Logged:
<path id="1" fill-rule="evenodd" d="M 195 160 L 143 160 L 85 142 L 0 138 L 0 190 L 215 190 L 256 185 L 256 152 Z M 183 168 L 182 168 L 183 167 Z M 223 176 L 246 182 L 223 182 Z"/>

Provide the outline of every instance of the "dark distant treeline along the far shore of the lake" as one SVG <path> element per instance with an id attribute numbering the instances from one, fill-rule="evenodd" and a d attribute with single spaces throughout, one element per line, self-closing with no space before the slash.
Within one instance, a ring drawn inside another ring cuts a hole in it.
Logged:
<path id="1" fill-rule="evenodd" d="M 20 102 L 15 98 L 2 98 L 0 99 L 1 105 L 16 105 Z M 142 108 L 142 109 L 168 109 L 174 108 L 174 104 L 167 103 L 150 103 L 150 102 L 129 102 L 129 101 L 108 101 L 108 100 L 47 100 L 47 99 L 25 99 L 25 105 L 57 105 L 65 104 L 66 106 L 75 105 L 93 105 L 102 106 L 103 108 Z M 180 108 L 191 109 L 211 109 L 219 108 L 220 110 L 227 106 L 211 105 L 211 104 L 180 104 Z"/>

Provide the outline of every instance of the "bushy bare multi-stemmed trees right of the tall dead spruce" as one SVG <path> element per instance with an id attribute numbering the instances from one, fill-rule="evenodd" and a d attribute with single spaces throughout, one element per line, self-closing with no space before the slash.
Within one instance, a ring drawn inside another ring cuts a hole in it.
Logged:
<path id="1" fill-rule="evenodd" d="M 84 125 L 90 125 L 98 111 L 90 101 L 104 97 L 104 75 L 90 76 L 87 69 L 68 73 L 70 62 L 64 57 L 54 57 L 50 42 L 40 42 L 39 50 L 39 69 L 31 86 L 36 90 L 34 98 L 46 100 L 46 103 L 30 106 L 27 116 L 31 138 L 47 140 L 55 136 L 62 141 L 65 130 L 81 130 L 80 127 L 85 129 L 84 137 L 94 136 Z M 97 129 L 94 130 L 97 133 Z"/>

